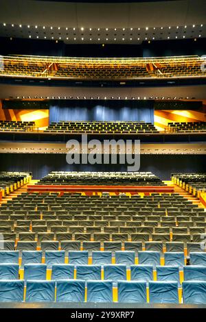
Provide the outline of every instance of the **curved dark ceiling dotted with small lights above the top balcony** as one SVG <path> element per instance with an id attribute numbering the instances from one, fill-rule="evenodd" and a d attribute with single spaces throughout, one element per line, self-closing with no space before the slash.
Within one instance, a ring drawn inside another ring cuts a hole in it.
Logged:
<path id="1" fill-rule="evenodd" d="M 1 0 L 0 36 L 65 43 L 206 38 L 206 1 L 69 3 Z"/>

